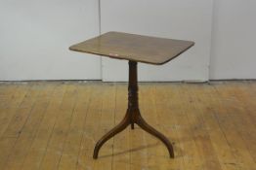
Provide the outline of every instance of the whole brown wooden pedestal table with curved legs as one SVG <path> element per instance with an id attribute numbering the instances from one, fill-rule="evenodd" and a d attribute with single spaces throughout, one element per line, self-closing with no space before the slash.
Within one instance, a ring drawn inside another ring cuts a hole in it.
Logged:
<path id="1" fill-rule="evenodd" d="M 169 140 L 143 119 L 138 102 L 137 62 L 164 64 L 194 45 L 191 41 L 156 38 L 120 32 L 107 32 L 99 37 L 73 45 L 71 51 L 100 54 L 115 59 L 129 60 L 128 109 L 124 119 L 104 135 L 96 144 L 93 157 L 98 158 L 101 147 L 107 140 L 134 123 L 163 142 L 174 157 Z"/>

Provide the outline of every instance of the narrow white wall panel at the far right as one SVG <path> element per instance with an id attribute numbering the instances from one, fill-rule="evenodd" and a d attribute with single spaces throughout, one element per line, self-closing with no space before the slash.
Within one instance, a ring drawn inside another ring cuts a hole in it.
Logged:
<path id="1" fill-rule="evenodd" d="M 256 1 L 214 0 L 210 79 L 256 79 Z"/>

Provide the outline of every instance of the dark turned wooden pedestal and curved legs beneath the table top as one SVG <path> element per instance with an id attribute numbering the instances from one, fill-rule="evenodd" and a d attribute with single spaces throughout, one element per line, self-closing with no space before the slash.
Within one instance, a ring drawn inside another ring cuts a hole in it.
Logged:
<path id="1" fill-rule="evenodd" d="M 134 123 L 138 124 L 142 129 L 149 132 L 163 142 L 169 151 L 170 157 L 174 157 L 173 147 L 168 139 L 160 132 L 151 127 L 145 119 L 142 118 L 138 103 L 138 81 L 137 81 L 137 62 L 129 61 L 129 86 L 128 86 L 128 109 L 124 119 L 104 135 L 96 144 L 93 157 L 98 158 L 98 153 L 104 143 L 117 133 L 124 130 L 129 124 L 134 129 Z"/>

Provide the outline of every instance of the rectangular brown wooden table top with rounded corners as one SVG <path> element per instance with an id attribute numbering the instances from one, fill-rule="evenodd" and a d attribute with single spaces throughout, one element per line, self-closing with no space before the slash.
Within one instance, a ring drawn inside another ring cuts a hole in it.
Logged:
<path id="1" fill-rule="evenodd" d="M 107 32 L 78 43 L 71 51 L 95 53 L 117 59 L 164 64 L 194 45 L 191 41 L 156 38 L 121 32 Z"/>

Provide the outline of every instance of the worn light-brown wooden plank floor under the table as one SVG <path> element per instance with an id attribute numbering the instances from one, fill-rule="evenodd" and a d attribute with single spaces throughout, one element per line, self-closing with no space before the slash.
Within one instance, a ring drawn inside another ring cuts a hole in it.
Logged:
<path id="1" fill-rule="evenodd" d="M 256 82 L 140 84 L 141 113 L 176 158 L 136 126 L 94 160 L 95 143 L 126 102 L 127 84 L 0 84 L 0 169 L 256 169 Z"/>

